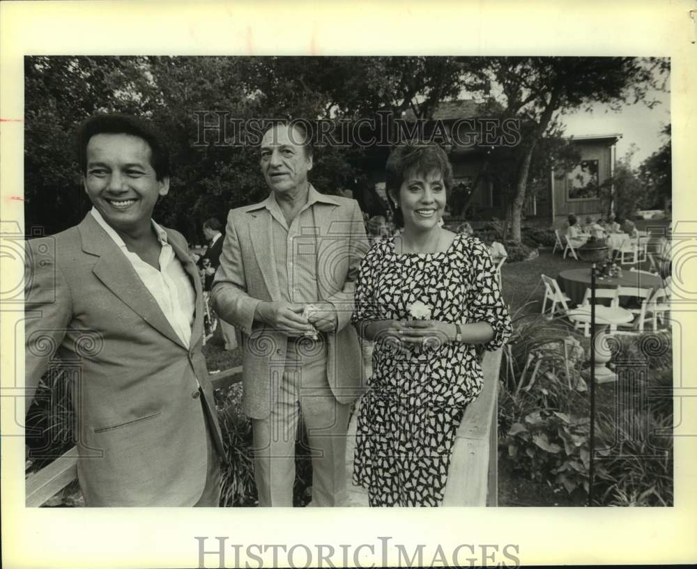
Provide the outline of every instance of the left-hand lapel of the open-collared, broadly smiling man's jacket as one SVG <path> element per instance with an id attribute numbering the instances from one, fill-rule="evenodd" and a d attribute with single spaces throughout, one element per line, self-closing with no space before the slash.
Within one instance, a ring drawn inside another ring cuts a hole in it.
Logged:
<path id="1" fill-rule="evenodd" d="M 95 276 L 124 304 L 171 341 L 183 346 L 155 297 L 143 284 L 129 260 L 111 237 L 87 214 L 78 226 L 82 235 L 82 250 L 98 256 L 92 268 Z M 183 346 L 185 347 L 185 346 Z"/>

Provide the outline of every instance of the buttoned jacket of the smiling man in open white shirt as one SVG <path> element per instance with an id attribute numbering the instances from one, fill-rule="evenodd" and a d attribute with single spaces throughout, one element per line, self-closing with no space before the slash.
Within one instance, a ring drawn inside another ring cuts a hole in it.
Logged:
<path id="1" fill-rule="evenodd" d="M 207 428 L 224 454 L 203 344 L 203 294 L 184 237 L 167 239 L 196 292 L 187 348 L 118 245 L 89 213 L 26 242 L 26 388 L 57 354 L 78 366 L 77 474 L 88 506 L 194 504 L 206 483 Z"/>

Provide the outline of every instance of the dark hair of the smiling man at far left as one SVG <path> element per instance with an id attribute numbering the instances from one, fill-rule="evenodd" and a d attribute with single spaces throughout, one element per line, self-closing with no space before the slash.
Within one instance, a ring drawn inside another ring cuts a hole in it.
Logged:
<path id="1" fill-rule="evenodd" d="M 87 174 L 87 144 L 97 134 L 130 134 L 150 146 L 150 163 L 158 181 L 169 177 L 169 150 L 155 127 L 137 116 L 123 113 L 98 114 L 88 118 L 77 132 L 80 171 Z"/>

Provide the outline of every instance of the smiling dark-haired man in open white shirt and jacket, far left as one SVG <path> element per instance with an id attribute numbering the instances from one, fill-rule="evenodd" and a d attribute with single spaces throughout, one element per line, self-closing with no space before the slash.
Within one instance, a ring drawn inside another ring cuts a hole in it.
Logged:
<path id="1" fill-rule="evenodd" d="M 220 428 L 184 237 L 155 224 L 169 157 L 151 127 L 98 115 L 79 136 L 84 220 L 26 244 L 27 407 L 54 355 L 72 382 L 86 506 L 217 506 Z"/>

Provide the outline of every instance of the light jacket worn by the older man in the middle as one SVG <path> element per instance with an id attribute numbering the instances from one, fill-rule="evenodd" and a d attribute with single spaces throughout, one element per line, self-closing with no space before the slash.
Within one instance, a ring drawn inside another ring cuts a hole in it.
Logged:
<path id="1" fill-rule="evenodd" d="M 273 260 L 273 217 L 266 203 L 229 212 L 212 291 L 217 314 L 243 333 L 243 409 L 252 419 L 270 413 L 277 398 L 273 377 L 282 372 L 286 359 L 286 336 L 254 322 L 259 302 L 282 300 Z M 349 321 L 355 276 L 367 251 L 365 226 L 355 200 L 323 194 L 312 207 L 318 300 L 330 302 L 338 315 L 337 331 L 327 335 L 327 376 L 337 400 L 351 403 L 363 389 L 360 344 Z"/>

